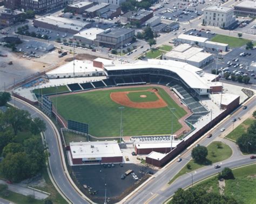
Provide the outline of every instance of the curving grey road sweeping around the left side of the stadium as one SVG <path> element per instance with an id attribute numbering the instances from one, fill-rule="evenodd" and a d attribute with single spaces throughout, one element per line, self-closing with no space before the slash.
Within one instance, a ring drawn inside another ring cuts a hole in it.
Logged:
<path id="1" fill-rule="evenodd" d="M 37 108 L 25 103 L 22 100 L 12 99 L 11 104 L 15 104 L 17 108 L 28 111 L 32 118 L 38 117 L 45 121 L 47 130 L 44 132 L 45 141 L 48 144 L 49 152 L 51 156 L 49 157 L 50 171 L 55 183 L 57 184 L 60 191 L 68 198 L 72 203 L 90 203 L 86 201 L 82 195 L 80 195 L 76 189 L 71 185 L 69 179 L 67 178 L 66 172 L 63 167 L 62 158 L 64 155 L 60 153 L 60 147 L 58 144 L 58 134 L 55 131 L 54 125 L 51 123 L 50 119 L 46 117 Z M 61 144 L 60 144 L 61 145 Z M 68 174 L 68 172 L 67 172 Z"/>

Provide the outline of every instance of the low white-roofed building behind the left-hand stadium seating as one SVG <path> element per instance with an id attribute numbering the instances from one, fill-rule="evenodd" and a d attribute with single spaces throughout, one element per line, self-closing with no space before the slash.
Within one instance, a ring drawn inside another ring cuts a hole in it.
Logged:
<path id="1" fill-rule="evenodd" d="M 99 60 L 96 60 L 96 65 Z M 104 60 L 104 65 L 112 64 L 111 60 Z M 95 66 L 93 62 L 88 60 L 75 60 L 59 66 L 57 69 L 46 72 L 46 76 L 50 79 L 56 78 L 70 78 L 73 77 L 98 77 L 103 76 L 104 71 L 101 67 Z"/>

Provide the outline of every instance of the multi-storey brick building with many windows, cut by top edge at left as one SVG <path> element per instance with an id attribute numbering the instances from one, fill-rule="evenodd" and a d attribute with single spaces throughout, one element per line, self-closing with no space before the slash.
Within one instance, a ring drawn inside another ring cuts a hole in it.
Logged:
<path id="1" fill-rule="evenodd" d="M 31 9 L 36 13 L 45 13 L 63 8 L 67 3 L 67 0 L 21 0 L 21 8 L 24 10 Z"/>

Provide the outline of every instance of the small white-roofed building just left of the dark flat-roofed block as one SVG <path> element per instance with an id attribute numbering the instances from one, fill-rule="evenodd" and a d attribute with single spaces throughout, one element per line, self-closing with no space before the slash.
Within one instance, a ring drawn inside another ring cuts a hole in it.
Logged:
<path id="1" fill-rule="evenodd" d="M 97 34 L 104 32 L 103 29 L 90 28 L 74 35 L 74 39 L 78 40 L 80 43 L 84 43 L 85 46 L 90 46 L 94 44 Z"/>

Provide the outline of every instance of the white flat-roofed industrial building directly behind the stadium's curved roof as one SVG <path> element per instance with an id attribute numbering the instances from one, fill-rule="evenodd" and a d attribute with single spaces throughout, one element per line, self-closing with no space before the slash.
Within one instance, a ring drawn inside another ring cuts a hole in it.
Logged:
<path id="1" fill-rule="evenodd" d="M 192 47 L 189 44 L 181 44 L 172 51 L 167 52 L 165 58 L 185 62 L 196 67 L 202 67 L 213 59 L 212 54 L 202 51 L 204 51 L 202 48 Z"/>

